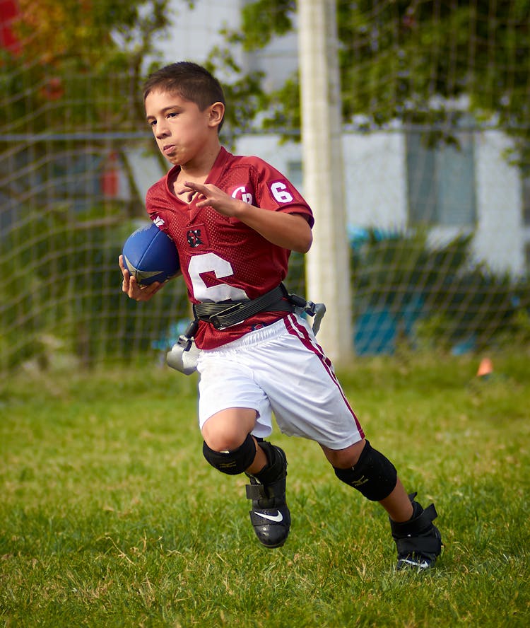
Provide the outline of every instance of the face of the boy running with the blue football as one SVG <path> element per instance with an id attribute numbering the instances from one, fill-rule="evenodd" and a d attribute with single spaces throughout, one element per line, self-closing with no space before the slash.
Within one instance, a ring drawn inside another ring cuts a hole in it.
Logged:
<path id="1" fill-rule="evenodd" d="M 185 165 L 200 157 L 210 143 L 217 142 L 221 103 L 201 111 L 196 103 L 178 93 L 152 91 L 146 98 L 147 122 L 160 152 L 174 165 Z M 216 107 L 220 105 L 220 107 Z"/>

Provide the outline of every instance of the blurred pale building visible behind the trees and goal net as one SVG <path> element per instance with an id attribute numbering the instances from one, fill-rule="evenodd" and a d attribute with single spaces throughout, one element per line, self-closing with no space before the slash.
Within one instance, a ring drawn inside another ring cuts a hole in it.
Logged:
<path id="1" fill-rule="evenodd" d="M 158 37 L 163 61 L 204 62 L 214 46 L 225 44 L 223 29 L 237 30 L 244 4 L 245 0 L 199 0 L 190 8 L 184 0 L 172 0 L 173 26 Z M 0 0 L 0 8 L 0 47 L 17 50 L 19 44 L 11 28 L 16 0 Z M 297 34 L 277 37 L 259 51 L 244 52 L 236 47 L 232 54 L 244 71 L 264 71 L 266 88 L 275 88 L 297 71 Z M 510 139 L 493 129 L 473 129 L 471 123 L 457 136 L 459 150 L 453 146 L 428 148 L 420 129 L 405 130 L 396 124 L 384 131 L 360 132 L 345 127 L 348 230 L 403 231 L 425 226 L 436 243 L 459 233 L 474 233 L 476 260 L 495 272 L 515 276 L 529 272 L 530 178 L 524 178 L 519 168 L 508 163 L 505 155 Z M 235 151 L 263 157 L 303 193 L 299 143 L 280 144 L 276 135 L 249 134 L 237 139 Z M 146 156 L 143 149 L 134 149 L 133 144 L 119 155 L 114 149 L 100 152 L 91 144 L 82 150 L 76 146 L 72 154 L 54 156 L 46 168 L 38 170 L 33 165 L 32 186 L 47 178 L 52 200 L 60 203 L 68 197 L 73 199 L 74 209 L 83 209 L 90 207 L 94 194 L 122 202 L 133 202 L 135 194 L 143 198 L 164 173 L 158 159 Z M 29 168 L 33 158 L 29 149 L 16 157 L 6 154 L 6 165 L 1 167 L 11 172 Z M 11 185 L 22 193 L 27 181 L 15 178 Z M 13 222 L 18 201 L 4 198 L 0 192 L 0 202 L 4 208 L 0 224 L 5 228 Z"/>

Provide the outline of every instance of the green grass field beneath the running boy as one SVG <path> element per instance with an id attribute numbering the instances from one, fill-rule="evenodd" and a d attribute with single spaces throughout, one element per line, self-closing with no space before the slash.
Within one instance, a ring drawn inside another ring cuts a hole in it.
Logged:
<path id="1" fill-rule="evenodd" d="M 530 625 L 530 357 L 372 359 L 339 373 L 444 554 L 396 573 L 384 511 L 315 443 L 276 433 L 293 526 L 259 546 L 245 477 L 201 454 L 196 380 L 169 368 L 0 384 L 0 624 L 12 627 Z"/>

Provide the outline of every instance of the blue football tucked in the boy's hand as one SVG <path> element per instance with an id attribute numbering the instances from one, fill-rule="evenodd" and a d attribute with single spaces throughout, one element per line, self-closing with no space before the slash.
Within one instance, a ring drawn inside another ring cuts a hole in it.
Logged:
<path id="1" fill-rule="evenodd" d="M 143 286 L 170 279 L 180 269 L 175 243 L 155 223 L 131 233 L 122 253 L 126 269 Z"/>

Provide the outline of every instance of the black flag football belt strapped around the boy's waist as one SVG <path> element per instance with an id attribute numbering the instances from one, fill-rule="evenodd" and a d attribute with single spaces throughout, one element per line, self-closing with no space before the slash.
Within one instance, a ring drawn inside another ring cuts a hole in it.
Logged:
<path id="1" fill-rule="evenodd" d="M 196 319 L 210 322 L 216 330 L 237 325 L 260 312 L 294 312 L 297 308 L 310 316 L 322 311 L 323 303 L 313 303 L 297 294 L 288 293 L 283 284 L 249 301 L 225 301 L 224 303 L 196 303 L 193 313 Z M 322 318 L 324 312 L 319 318 Z M 316 321 L 315 321 L 316 322 Z"/>

